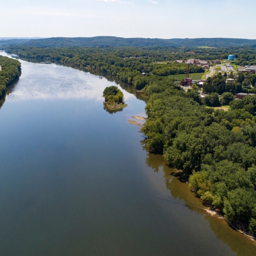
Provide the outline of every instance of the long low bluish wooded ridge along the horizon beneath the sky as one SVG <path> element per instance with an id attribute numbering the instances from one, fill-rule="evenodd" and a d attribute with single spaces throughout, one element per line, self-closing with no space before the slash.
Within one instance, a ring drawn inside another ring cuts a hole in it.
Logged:
<path id="1" fill-rule="evenodd" d="M 52 37 L 22 42 L 33 47 L 256 47 L 256 39 L 238 38 L 122 38 L 115 36 Z"/>

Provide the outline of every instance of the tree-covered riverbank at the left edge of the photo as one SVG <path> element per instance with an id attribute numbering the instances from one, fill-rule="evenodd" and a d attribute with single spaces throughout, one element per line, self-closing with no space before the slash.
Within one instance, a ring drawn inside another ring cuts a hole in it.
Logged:
<path id="1" fill-rule="evenodd" d="M 0 71 L 0 97 L 2 97 L 6 91 L 6 86 L 20 76 L 21 64 L 16 59 L 0 56 L 0 66 L 2 69 Z"/>

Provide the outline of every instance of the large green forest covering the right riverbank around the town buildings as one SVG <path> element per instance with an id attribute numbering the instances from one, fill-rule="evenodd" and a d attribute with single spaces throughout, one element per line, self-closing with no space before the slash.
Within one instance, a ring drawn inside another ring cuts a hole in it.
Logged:
<path id="1" fill-rule="evenodd" d="M 255 90 L 254 76 L 230 73 L 231 84 L 226 83 L 225 74 L 209 77 L 203 85 L 203 90 L 209 93 L 206 99 L 196 90 L 184 91 L 169 77 L 169 74 L 186 72 L 186 64 L 174 63 L 175 59 L 187 59 L 195 54 L 202 59 L 224 59 L 230 49 L 12 46 L 8 51 L 99 70 L 142 89 L 148 96 L 145 108 L 148 118 L 142 127 L 148 151 L 163 154 L 167 164 L 180 170 L 183 180 L 189 180 L 190 188 L 202 202 L 255 236 L 256 95 L 241 100 L 233 100 L 232 96 L 232 93 Z M 237 56 L 238 65 L 255 65 L 254 48 L 231 50 Z M 201 72 L 200 68 L 194 67 L 193 72 Z M 229 103 L 228 111 L 206 108 L 207 104 L 220 104 L 219 93 L 221 100 Z M 231 93 L 231 97 L 224 93 Z"/>

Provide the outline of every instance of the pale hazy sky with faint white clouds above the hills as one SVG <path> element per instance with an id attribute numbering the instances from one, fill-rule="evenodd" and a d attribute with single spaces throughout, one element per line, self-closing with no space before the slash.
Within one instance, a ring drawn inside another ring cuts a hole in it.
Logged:
<path id="1" fill-rule="evenodd" d="M 256 39 L 256 0 L 0 0 L 0 37 Z"/>

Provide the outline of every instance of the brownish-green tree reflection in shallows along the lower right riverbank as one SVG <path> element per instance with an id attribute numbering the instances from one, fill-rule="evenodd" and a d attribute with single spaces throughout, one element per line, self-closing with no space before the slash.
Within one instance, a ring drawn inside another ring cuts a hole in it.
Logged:
<path id="1" fill-rule="evenodd" d="M 232 251 L 237 253 L 237 255 L 255 255 L 256 242 L 252 242 L 250 238 L 243 236 L 236 230 L 233 230 L 228 226 L 224 219 L 208 214 L 208 212 L 204 210 L 207 209 L 207 207 L 204 206 L 196 194 L 188 188 L 188 184 L 181 182 L 179 178 L 173 176 L 173 172 L 175 170 L 166 165 L 163 156 L 147 153 L 146 164 L 151 167 L 154 172 L 162 175 L 169 195 L 166 191 L 163 191 L 158 184 L 155 184 L 155 186 L 159 188 L 160 195 L 172 200 L 167 201 L 170 206 L 175 205 L 175 202 L 181 203 L 190 211 L 197 212 L 197 214 L 202 215 L 204 220 L 209 223 L 209 226 L 211 230 L 214 231 L 216 237 L 227 244 Z M 151 181 L 153 183 L 155 182 L 153 179 L 151 179 Z M 156 181 L 156 183 L 158 182 L 159 181 Z"/>

